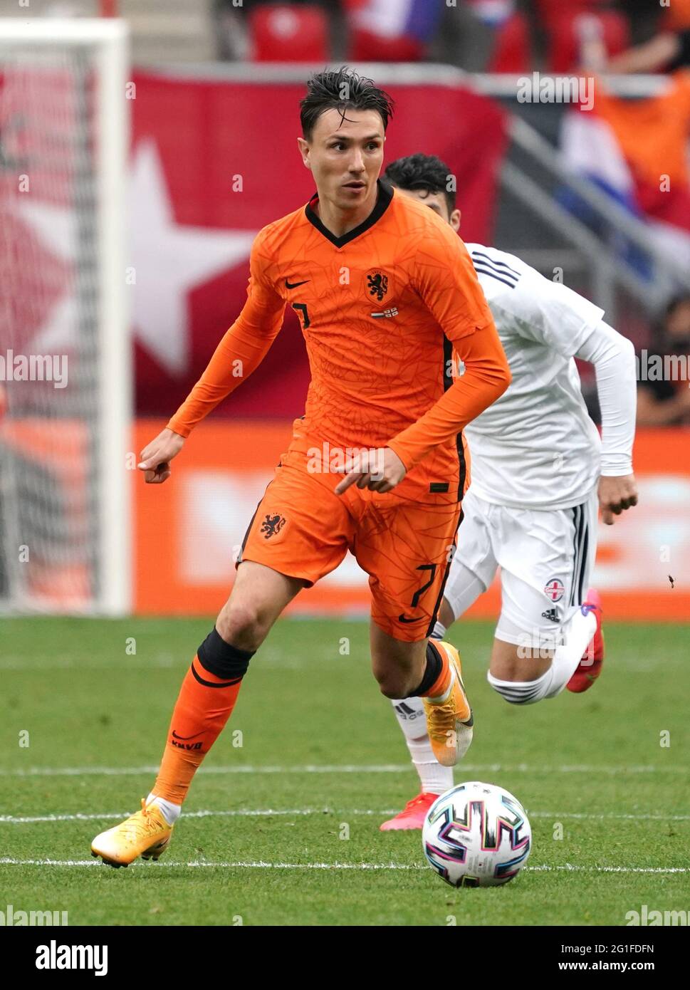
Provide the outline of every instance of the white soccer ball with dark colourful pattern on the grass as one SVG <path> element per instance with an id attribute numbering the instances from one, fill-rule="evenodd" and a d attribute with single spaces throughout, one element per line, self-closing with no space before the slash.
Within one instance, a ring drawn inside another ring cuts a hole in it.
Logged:
<path id="1" fill-rule="evenodd" d="M 453 887 L 496 887 L 527 862 L 532 829 L 525 809 L 502 787 L 471 780 L 445 791 L 427 813 L 422 847 Z"/>

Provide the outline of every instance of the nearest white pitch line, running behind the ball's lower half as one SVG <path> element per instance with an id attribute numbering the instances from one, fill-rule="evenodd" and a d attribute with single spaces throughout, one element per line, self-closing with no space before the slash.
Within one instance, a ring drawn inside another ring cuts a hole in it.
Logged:
<path id="1" fill-rule="evenodd" d="M 15 859 L 11 856 L 0 858 L 2 866 L 100 866 L 97 859 Z M 137 869 L 150 868 L 145 863 L 134 863 Z M 263 860 L 236 860 L 236 861 L 208 861 L 192 859 L 189 862 L 171 860 L 169 862 L 156 863 L 155 869 L 164 866 L 172 867 L 216 867 L 217 869 L 404 869 L 404 870 L 424 870 L 428 867 L 423 863 L 269 863 Z M 551 866 L 543 863 L 540 866 L 525 866 L 528 872 L 555 872 L 564 870 L 568 873 L 690 873 L 690 866 L 577 866 L 573 863 L 564 863 L 559 866 Z"/>

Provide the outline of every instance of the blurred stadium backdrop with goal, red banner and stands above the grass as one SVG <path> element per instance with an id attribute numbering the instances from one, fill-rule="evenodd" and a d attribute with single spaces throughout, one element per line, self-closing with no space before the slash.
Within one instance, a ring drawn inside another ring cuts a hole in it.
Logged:
<path id="1" fill-rule="evenodd" d="M 2 0 L 0 17 L 2 611 L 219 610 L 303 409 L 295 315 L 171 483 L 145 486 L 137 453 L 241 309 L 256 232 L 311 195 L 297 102 L 345 61 L 397 101 L 387 160 L 448 162 L 465 240 L 604 307 L 641 367 L 674 356 L 641 381 L 641 504 L 602 528 L 596 582 L 610 617 L 687 619 L 690 0 Z M 554 75 L 581 102 L 549 99 Z M 53 380 L 22 380 L 32 355 Z M 492 589 L 473 615 L 496 606 Z M 292 609 L 366 614 L 366 576 L 348 558 Z"/>

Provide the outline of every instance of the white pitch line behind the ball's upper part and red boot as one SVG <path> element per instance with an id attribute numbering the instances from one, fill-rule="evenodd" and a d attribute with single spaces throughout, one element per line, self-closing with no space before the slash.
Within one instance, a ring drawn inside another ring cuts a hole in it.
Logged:
<path id="1" fill-rule="evenodd" d="M 399 808 L 383 808 L 380 810 L 370 808 L 234 808 L 223 811 L 190 811 L 184 813 L 184 818 L 272 818 L 276 815 L 367 815 L 384 816 L 397 815 Z M 122 812 L 102 812 L 101 814 L 84 814 L 75 812 L 73 814 L 55 815 L 0 815 L 0 825 L 34 825 L 45 822 L 106 822 L 110 820 L 127 818 L 130 811 Z M 630 822 L 688 822 L 690 815 L 636 815 L 602 813 L 590 814 L 583 812 L 569 811 L 530 811 L 530 818 L 561 819 L 571 818 L 586 821 L 630 821 Z"/>

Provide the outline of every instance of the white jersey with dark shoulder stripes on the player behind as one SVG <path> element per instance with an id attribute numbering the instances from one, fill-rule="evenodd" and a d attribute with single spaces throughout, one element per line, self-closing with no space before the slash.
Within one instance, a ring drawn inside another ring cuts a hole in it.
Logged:
<path id="1" fill-rule="evenodd" d="M 599 432 L 585 407 L 574 355 L 603 310 L 520 258 L 468 244 L 513 381 L 464 430 L 472 488 L 515 508 L 583 504 L 601 472 Z"/>

